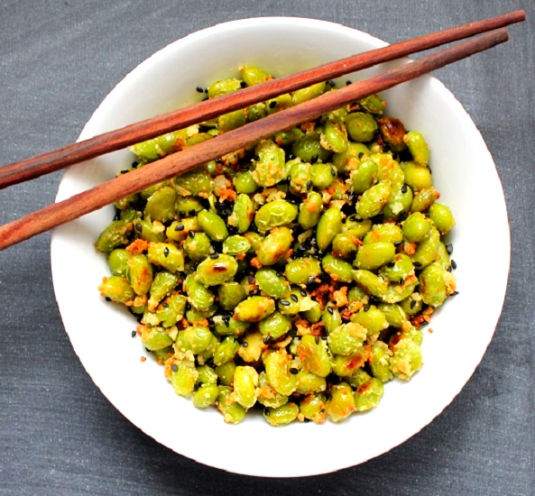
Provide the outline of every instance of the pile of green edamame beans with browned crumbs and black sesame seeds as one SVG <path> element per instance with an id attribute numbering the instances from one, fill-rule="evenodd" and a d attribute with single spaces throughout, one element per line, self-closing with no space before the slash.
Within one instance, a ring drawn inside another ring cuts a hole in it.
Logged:
<path id="1" fill-rule="evenodd" d="M 239 77 L 214 98 L 271 78 Z M 327 91 L 278 96 L 132 147 L 120 173 Z M 281 131 L 115 203 L 97 240 L 106 299 L 137 317 L 177 394 L 227 423 L 339 422 L 420 370 L 422 326 L 457 294 L 429 146 L 380 96 Z M 148 165 L 150 167 L 150 165 Z"/>

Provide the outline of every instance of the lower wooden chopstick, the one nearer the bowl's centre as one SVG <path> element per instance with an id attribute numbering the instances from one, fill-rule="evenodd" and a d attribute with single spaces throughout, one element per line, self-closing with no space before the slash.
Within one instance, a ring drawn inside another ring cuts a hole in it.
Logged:
<path id="1" fill-rule="evenodd" d="M 98 208 L 105 207 L 122 197 L 131 195 L 164 179 L 171 179 L 203 163 L 215 160 L 221 155 L 244 148 L 244 146 L 267 138 L 281 129 L 316 119 L 319 115 L 335 110 L 340 106 L 394 87 L 404 81 L 418 78 L 422 74 L 489 49 L 507 41 L 507 39 L 506 29 L 488 32 L 474 40 L 463 41 L 446 50 L 388 70 L 373 78 L 358 81 L 337 91 L 325 93 L 299 106 L 290 107 L 254 123 L 245 124 L 234 131 L 220 134 L 206 142 L 198 143 L 181 152 L 168 155 L 160 161 L 147 164 L 141 169 L 108 180 L 88 189 L 88 191 L 78 193 L 78 195 L 0 226 L 0 250 L 93 212 Z"/>

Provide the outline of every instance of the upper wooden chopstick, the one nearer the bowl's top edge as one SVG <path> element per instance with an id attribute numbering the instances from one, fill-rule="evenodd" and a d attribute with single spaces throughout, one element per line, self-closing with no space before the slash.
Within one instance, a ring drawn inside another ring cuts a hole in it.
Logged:
<path id="1" fill-rule="evenodd" d="M 99 134 L 83 142 L 69 144 L 59 150 L 46 152 L 30 159 L 5 165 L 0 168 L 0 189 L 34 179 L 60 170 L 80 161 L 87 161 L 98 155 L 115 152 L 137 142 L 143 142 L 163 133 L 207 121 L 217 115 L 226 114 L 265 101 L 283 93 L 289 93 L 302 87 L 308 87 L 320 81 L 338 78 L 355 70 L 366 69 L 376 64 L 418 51 L 435 48 L 441 44 L 501 28 L 525 19 L 523 10 L 510 12 L 497 17 L 484 19 L 475 23 L 433 32 L 412 40 L 401 41 L 388 47 L 367 51 L 337 60 L 315 69 L 309 69 L 284 78 L 272 79 L 262 85 L 244 88 L 241 91 L 199 102 L 192 106 L 158 115 L 140 123 L 130 124 L 109 133 Z"/>

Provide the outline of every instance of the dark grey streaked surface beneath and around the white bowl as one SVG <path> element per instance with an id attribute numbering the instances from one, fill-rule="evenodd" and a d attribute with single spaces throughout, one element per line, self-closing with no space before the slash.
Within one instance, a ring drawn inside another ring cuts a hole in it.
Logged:
<path id="1" fill-rule="evenodd" d="M 54 299 L 50 235 L 42 234 L 0 253 L 0 493 L 535 494 L 532 0 L 0 0 L 0 163 L 75 141 L 127 72 L 215 23 L 309 16 L 393 42 L 516 8 L 528 21 L 512 27 L 511 41 L 437 74 L 493 153 L 512 231 L 493 342 L 441 416 L 367 464 L 305 479 L 238 476 L 176 455 L 125 420 L 78 362 Z M 0 222 L 50 204 L 59 181 L 56 173 L 0 191 Z M 492 250 L 492 235 L 484 249 Z M 299 440 L 289 441 L 300 456 Z M 262 443 L 252 439 L 246 455 Z M 351 444 L 318 446 L 317 455 Z"/>

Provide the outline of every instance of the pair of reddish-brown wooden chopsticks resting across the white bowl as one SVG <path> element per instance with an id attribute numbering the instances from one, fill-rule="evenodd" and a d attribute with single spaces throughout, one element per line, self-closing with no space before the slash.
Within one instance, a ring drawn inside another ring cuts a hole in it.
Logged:
<path id="1" fill-rule="evenodd" d="M 282 129 L 316 119 L 318 116 L 345 106 L 364 96 L 369 96 L 422 74 L 442 68 L 508 40 L 503 26 L 519 23 L 525 19 L 524 11 L 515 11 L 498 17 L 468 23 L 443 32 L 434 32 L 413 40 L 401 41 L 388 47 L 361 53 L 347 59 L 337 60 L 285 78 L 272 79 L 262 85 L 244 88 L 226 96 L 207 100 L 184 109 L 160 115 L 137 124 L 109 133 L 100 134 L 84 142 L 70 144 L 60 150 L 44 153 L 26 161 L 0 168 L 0 188 L 37 178 L 54 170 L 63 169 L 80 161 L 114 152 L 136 142 L 143 142 L 162 133 L 198 124 L 217 115 L 262 102 L 274 96 L 308 87 L 320 81 L 338 78 L 355 70 L 435 48 L 443 43 L 488 32 L 474 40 L 463 41 L 446 50 L 438 51 L 420 60 L 399 68 L 350 84 L 337 91 L 328 92 L 313 100 L 292 106 L 269 115 L 251 124 L 221 134 L 195 147 L 171 154 L 160 161 L 141 169 L 133 170 L 102 183 L 88 191 L 78 193 L 59 203 L 42 208 L 9 224 L 0 226 L 0 250 L 20 243 L 36 234 L 41 234 L 58 225 L 105 207 L 122 197 L 156 184 L 164 179 L 192 170 L 199 165 L 215 160 L 228 152 L 271 136 Z M 489 32 L 490 31 L 490 32 Z"/>

